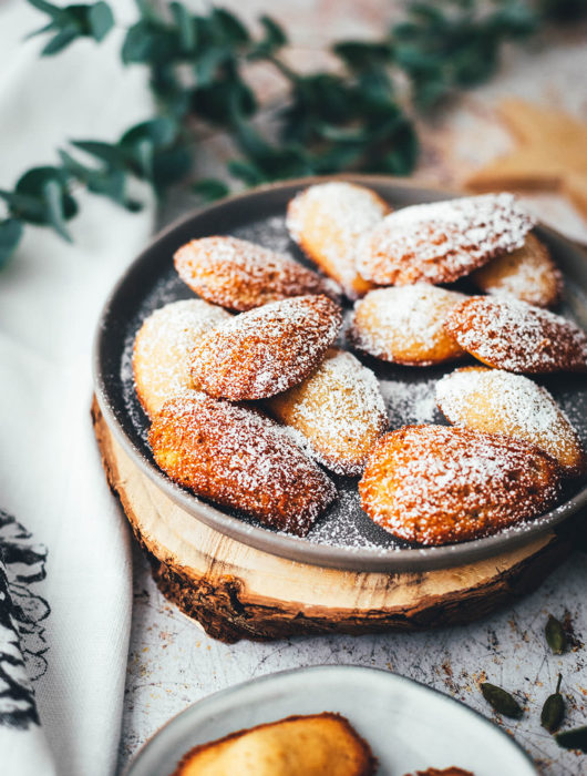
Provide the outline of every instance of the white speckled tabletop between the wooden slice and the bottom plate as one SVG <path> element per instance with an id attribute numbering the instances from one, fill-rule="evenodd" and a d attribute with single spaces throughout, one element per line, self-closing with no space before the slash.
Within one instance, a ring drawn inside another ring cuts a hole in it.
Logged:
<path id="1" fill-rule="evenodd" d="M 136 548 L 136 545 L 135 545 Z M 158 592 L 135 549 L 134 612 L 121 767 L 167 719 L 190 703 L 255 676 L 323 663 L 388 668 L 423 682 L 504 724 L 547 776 L 587 774 L 587 756 L 559 749 L 540 727 L 546 696 L 563 674 L 568 725 L 587 723 L 587 555 L 576 554 L 534 594 L 465 627 L 428 633 L 313 636 L 222 644 L 208 639 Z M 553 655 L 544 639 L 548 613 L 569 617 L 574 647 Z M 516 691 L 519 722 L 492 715 L 480 681 Z M 236 776 L 236 775 L 235 775 Z M 503 774 L 501 776 L 515 776 Z"/>

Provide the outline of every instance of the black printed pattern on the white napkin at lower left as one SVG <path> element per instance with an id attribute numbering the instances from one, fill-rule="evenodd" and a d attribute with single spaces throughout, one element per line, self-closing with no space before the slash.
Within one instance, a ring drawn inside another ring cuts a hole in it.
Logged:
<path id="1" fill-rule="evenodd" d="M 43 621 L 51 609 L 31 590 L 45 576 L 47 548 L 0 510 L 0 725 L 39 724 L 32 682 L 47 671 Z"/>

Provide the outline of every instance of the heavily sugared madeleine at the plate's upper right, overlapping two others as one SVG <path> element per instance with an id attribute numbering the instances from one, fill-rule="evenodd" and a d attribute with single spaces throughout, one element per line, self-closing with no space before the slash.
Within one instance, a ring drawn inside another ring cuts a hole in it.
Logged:
<path id="1" fill-rule="evenodd" d="M 535 219 L 507 193 L 395 211 L 361 243 L 361 275 L 383 285 L 452 283 L 524 245 Z"/>

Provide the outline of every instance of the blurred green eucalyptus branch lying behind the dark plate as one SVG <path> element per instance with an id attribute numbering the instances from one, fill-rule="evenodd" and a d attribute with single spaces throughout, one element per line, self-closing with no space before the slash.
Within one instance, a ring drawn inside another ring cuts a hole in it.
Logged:
<path id="1" fill-rule="evenodd" d="M 81 38 L 101 43 L 114 29 L 104 0 L 58 7 L 29 0 L 48 17 L 33 35 L 49 35 L 41 55 L 55 55 Z M 241 152 L 229 173 L 246 185 L 344 170 L 410 173 L 419 144 L 410 112 L 433 109 L 452 92 L 491 78 L 506 41 L 528 38 L 547 22 L 575 20 L 587 0 L 428 0 L 406 6 L 405 19 L 379 41 L 332 47 L 339 67 L 309 75 L 282 58 L 288 40 L 271 18 L 255 35 L 229 11 L 195 14 L 182 2 L 162 11 L 136 0 L 137 20 L 125 32 L 124 65 L 146 67 L 154 116 L 127 130 L 116 143 L 79 140 L 58 151 L 59 163 L 25 172 L 13 191 L 0 190 L 0 266 L 14 252 L 25 224 L 47 225 L 70 239 L 66 222 L 79 210 L 80 188 L 136 211 L 131 178 L 148 182 L 157 196 L 187 182 L 202 123 L 227 131 Z M 284 76 L 286 94 L 277 136 L 258 129 L 261 105 L 248 83 L 250 62 L 265 62 Z M 410 84 L 408 100 L 400 80 Z M 91 161 L 89 161 L 91 160 Z M 200 198 L 224 196 L 214 178 L 197 181 Z"/>

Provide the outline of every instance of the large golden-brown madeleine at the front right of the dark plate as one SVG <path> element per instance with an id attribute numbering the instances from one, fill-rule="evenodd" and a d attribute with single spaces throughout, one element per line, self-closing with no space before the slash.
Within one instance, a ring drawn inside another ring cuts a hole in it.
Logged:
<path id="1" fill-rule="evenodd" d="M 369 517 L 419 544 L 468 541 L 538 517 L 560 492 L 544 450 L 504 435 L 405 426 L 381 437 L 359 483 Z"/>

